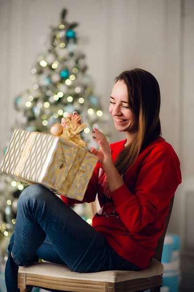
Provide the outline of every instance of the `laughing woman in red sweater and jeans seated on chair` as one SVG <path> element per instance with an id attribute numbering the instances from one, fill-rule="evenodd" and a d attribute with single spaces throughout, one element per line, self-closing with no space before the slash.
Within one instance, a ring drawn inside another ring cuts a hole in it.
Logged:
<path id="1" fill-rule="evenodd" d="M 148 266 L 181 183 L 178 157 L 161 138 L 159 109 L 159 84 L 151 73 L 134 69 L 116 78 L 109 111 L 126 139 L 109 145 L 93 129 L 100 150 L 91 152 L 99 162 L 82 201 L 92 202 L 98 193 L 101 209 L 90 226 L 69 207 L 82 202 L 62 196 L 64 203 L 38 184 L 27 187 L 8 246 L 7 292 L 18 291 L 18 266 L 38 257 L 81 273 Z"/>

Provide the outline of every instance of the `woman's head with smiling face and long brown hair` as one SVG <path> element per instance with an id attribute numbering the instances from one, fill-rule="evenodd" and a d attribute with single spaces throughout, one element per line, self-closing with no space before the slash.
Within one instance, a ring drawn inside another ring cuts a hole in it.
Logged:
<path id="1" fill-rule="evenodd" d="M 142 69 L 124 71 L 115 81 L 109 111 L 115 128 L 127 138 L 126 149 L 117 160 L 121 173 L 135 162 L 143 147 L 161 136 L 160 90 L 156 78 Z"/>

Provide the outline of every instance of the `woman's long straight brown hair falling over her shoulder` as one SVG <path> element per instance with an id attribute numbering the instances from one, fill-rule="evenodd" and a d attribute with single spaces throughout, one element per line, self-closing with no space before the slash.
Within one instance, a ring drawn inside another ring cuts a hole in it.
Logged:
<path id="1" fill-rule="evenodd" d="M 126 84 L 129 109 L 139 120 L 137 136 L 120 152 L 115 162 L 122 175 L 134 164 L 141 151 L 161 136 L 160 91 L 156 78 L 142 69 L 124 71 L 115 78 L 115 83 L 119 80 Z"/>

